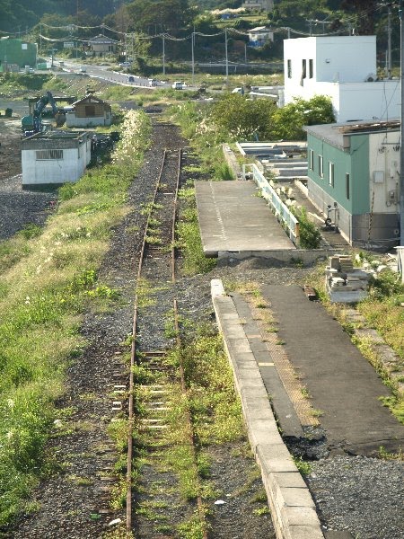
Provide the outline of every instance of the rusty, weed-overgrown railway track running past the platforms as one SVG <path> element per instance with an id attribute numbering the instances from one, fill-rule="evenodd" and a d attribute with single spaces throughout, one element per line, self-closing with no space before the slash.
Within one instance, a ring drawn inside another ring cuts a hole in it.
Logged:
<path id="1" fill-rule="evenodd" d="M 160 459 L 161 451 L 170 450 L 173 443 L 171 416 L 178 399 L 187 402 L 187 387 L 181 365 L 174 367 L 167 362 L 164 340 L 167 337 L 167 319 L 161 320 L 162 346 L 149 349 L 142 339 L 142 326 L 147 325 L 147 314 L 142 305 L 153 304 L 153 290 L 157 287 L 169 288 L 175 283 L 175 223 L 178 191 L 180 187 L 181 149 L 164 151 L 162 166 L 155 183 L 153 199 L 145 206 L 147 219 L 143 243 L 136 275 L 136 297 L 130 354 L 130 375 L 128 391 L 128 436 L 127 436 L 127 531 L 136 532 L 134 512 L 138 506 L 138 497 L 134 489 L 134 476 L 138 476 L 139 467 L 136 457 L 142 446 L 150 468 Z M 146 292 L 145 292 L 146 290 Z M 145 296 L 149 296 L 145 301 Z M 163 300 L 164 301 L 164 300 Z M 165 310 L 170 313 L 171 343 L 172 337 L 179 344 L 179 315 L 177 301 L 167 294 Z M 160 305 L 161 308 L 161 305 Z M 153 308 L 151 309 L 152 316 Z M 150 315 L 150 313 L 148 314 Z M 154 334 L 155 341 L 155 334 Z M 140 373 L 140 374 L 139 374 Z M 192 419 L 188 406 L 183 409 L 182 429 L 187 434 L 185 444 L 194 466 L 194 477 L 198 478 L 197 450 L 192 430 Z M 175 436 L 175 435 L 174 435 Z M 134 444 L 137 441 L 137 446 Z M 184 442 L 182 442 L 184 443 Z M 156 473 L 156 472 L 154 472 Z M 167 476 L 162 473 L 162 476 Z M 167 484 L 170 488 L 172 475 Z M 203 536 L 206 538 L 205 511 L 198 488 L 197 479 L 196 514 L 200 521 Z M 191 505 L 192 507 L 192 505 Z"/>

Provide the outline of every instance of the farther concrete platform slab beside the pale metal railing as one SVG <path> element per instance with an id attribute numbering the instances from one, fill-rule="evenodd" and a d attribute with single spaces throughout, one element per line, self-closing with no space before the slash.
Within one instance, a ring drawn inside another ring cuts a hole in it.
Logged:
<path id="1" fill-rule="evenodd" d="M 195 186 L 206 256 L 295 249 L 252 181 L 196 181 Z"/>

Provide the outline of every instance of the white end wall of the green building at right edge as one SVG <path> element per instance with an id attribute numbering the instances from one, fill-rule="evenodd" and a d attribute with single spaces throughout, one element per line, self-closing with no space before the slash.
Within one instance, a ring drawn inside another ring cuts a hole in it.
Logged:
<path id="1" fill-rule="evenodd" d="M 397 213 L 400 200 L 400 131 L 374 133 L 369 137 L 369 172 L 369 202 L 373 213 Z M 391 200 L 391 191 L 394 191 L 396 201 Z"/>

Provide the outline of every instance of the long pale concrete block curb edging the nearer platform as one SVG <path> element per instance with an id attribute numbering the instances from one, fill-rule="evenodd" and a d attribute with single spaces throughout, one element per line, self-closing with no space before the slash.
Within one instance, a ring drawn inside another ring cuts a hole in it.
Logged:
<path id="1" fill-rule="evenodd" d="M 211 295 L 277 539 L 324 539 L 312 495 L 278 432 L 257 361 L 220 279 L 211 281 Z"/>

